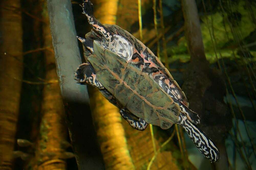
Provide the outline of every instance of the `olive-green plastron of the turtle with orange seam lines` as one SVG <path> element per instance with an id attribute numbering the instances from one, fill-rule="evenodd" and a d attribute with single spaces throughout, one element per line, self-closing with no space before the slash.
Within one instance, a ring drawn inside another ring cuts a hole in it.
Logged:
<path id="1" fill-rule="evenodd" d="M 87 59 L 98 80 L 121 106 L 162 129 L 168 129 L 178 121 L 179 105 L 147 70 L 104 49 L 97 40 L 93 41 L 93 49 L 94 54 Z"/>

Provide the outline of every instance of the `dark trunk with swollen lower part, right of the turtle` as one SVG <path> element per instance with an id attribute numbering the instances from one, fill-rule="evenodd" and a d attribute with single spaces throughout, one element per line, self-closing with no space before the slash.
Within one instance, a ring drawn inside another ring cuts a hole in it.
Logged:
<path id="1" fill-rule="evenodd" d="M 220 72 L 210 69 L 206 60 L 195 0 L 183 0 L 182 10 L 188 51 L 191 56 L 190 65 L 184 75 L 183 90 L 190 109 L 199 114 L 200 128 L 221 148 L 222 161 L 216 164 L 221 162 L 221 166 L 228 169 L 223 141 L 231 127 L 231 119 L 223 102 L 225 84 Z M 226 159 L 225 164 L 223 159 Z"/>

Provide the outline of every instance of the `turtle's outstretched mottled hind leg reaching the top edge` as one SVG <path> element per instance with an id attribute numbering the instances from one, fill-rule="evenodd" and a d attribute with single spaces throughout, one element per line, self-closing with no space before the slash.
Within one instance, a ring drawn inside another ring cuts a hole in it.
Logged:
<path id="1" fill-rule="evenodd" d="M 92 25 L 93 29 L 100 33 L 104 38 L 104 44 L 106 47 L 109 46 L 109 43 L 114 40 L 113 33 L 109 31 L 103 24 L 101 24 L 94 16 L 93 16 L 93 4 L 90 0 L 84 1 L 83 5 L 83 14 L 86 15 L 88 22 Z"/>

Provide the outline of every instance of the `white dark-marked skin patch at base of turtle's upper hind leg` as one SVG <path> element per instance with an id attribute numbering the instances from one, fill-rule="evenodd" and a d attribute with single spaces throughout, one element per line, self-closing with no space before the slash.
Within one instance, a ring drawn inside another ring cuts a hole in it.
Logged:
<path id="1" fill-rule="evenodd" d="M 132 44 L 122 36 L 114 35 L 114 40 L 109 44 L 108 49 L 127 61 L 132 59 Z"/>

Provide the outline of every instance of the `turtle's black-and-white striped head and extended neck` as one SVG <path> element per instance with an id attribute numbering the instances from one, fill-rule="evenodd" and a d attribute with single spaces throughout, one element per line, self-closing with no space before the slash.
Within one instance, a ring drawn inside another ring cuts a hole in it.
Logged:
<path id="1" fill-rule="evenodd" d="M 214 142 L 198 127 L 196 127 L 183 113 L 179 114 L 178 122 L 187 132 L 197 149 L 211 162 L 220 158 L 219 150 Z"/>

